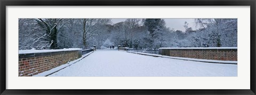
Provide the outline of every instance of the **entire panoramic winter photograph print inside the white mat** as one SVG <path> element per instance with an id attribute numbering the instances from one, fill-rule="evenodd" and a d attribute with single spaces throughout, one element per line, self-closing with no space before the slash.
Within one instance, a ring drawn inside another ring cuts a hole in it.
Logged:
<path id="1" fill-rule="evenodd" d="M 236 18 L 18 22 L 18 76 L 237 77 Z"/>

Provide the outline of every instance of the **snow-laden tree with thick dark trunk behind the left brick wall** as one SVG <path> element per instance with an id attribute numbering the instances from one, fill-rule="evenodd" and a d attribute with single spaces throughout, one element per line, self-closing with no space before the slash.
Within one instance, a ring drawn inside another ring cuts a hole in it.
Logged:
<path id="1" fill-rule="evenodd" d="M 58 49 L 57 33 L 63 27 L 63 25 L 70 22 L 71 20 L 73 19 L 19 19 L 19 32 L 20 34 L 26 33 L 26 35 L 20 35 L 20 37 L 26 38 L 25 40 L 20 42 L 23 42 L 23 44 L 26 43 L 26 45 L 23 45 L 24 47 L 26 47 L 26 49 Z"/>

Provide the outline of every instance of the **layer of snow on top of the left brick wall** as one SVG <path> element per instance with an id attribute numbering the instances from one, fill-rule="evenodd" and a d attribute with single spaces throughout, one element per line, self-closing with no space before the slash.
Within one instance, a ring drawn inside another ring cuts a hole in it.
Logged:
<path id="1" fill-rule="evenodd" d="M 31 54 L 31 53 L 47 53 L 47 52 L 57 52 L 57 51 L 71 51 L 71 50 L 82 50 L 81 48 L 64 48 L 64 49 L 27 49 L 27 50 L 19 50 L 19 54 Z"/>

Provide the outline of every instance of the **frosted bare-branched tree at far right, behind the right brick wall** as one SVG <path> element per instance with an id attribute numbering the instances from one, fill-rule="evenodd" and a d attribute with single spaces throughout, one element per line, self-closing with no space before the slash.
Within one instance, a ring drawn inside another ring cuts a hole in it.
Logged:
<path id="1" fill-rule="evenodd" d="M 237 46 L 237 19 L 195 19 L 195 22 L 205 32 L 202 37 L 208 40 L 207 46 Z"/>

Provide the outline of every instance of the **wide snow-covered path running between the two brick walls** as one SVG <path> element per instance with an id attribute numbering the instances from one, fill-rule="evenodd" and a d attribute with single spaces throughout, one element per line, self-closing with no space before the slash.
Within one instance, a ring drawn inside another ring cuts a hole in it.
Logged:
<path id="1" fill-rule="evenodd" d="M 237 65 L 145 56 L 125 51 L 94 51 L 49 76 L 237 76 Z"/>

